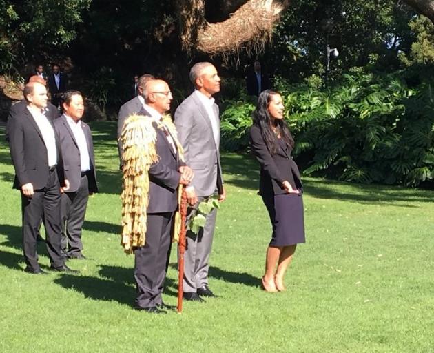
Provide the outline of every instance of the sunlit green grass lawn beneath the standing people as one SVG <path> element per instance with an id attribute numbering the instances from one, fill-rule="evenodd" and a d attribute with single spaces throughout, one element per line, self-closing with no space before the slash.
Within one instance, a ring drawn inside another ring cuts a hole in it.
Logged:
<path id="1" fill-rule="evenodd" d="M 119 245 L 115 125 L 92 128 L 101 193 L 83 229 L 89 259 L 68 263 L 79 275 L 23 272 L 19 192 L 0 145 L 0 352 L 434 352 L 434 192 L 305 178 L 307 243 L 287 291 L 267 293 L 258 165 L 224 154 L 210 268 L 220 297 L 152 315 L 132 310 L 134 257 Z M 175 247 L 171 263 L 164 300 L 175 305 Z"/>

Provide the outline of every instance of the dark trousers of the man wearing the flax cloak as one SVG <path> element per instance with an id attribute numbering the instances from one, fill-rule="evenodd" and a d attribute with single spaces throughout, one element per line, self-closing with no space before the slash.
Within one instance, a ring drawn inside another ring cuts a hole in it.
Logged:
<path id="1" fill-rule="evenodd" d="M 153 307 L 163 302 L 164 281 L 172 245 L 174 212 L 147 214 L 145 246 L 134 250 L 136 307 Z"/>

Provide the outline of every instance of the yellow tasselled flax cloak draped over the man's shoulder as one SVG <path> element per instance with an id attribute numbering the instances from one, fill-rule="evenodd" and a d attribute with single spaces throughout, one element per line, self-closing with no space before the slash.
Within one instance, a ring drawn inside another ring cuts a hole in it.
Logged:
<path id="1" fill-rule="evenodd" d="M 127 254 L 145 245 L 146 209 L 149 203 L 149 167 L 158 161 L 152 120 L 130 116 L 123 125 L 123 190 L 121 245 Z"/>

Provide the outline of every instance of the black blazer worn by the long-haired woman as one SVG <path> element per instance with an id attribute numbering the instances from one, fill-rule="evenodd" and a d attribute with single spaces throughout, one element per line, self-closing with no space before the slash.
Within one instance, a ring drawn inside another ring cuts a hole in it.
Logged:
<path id="1" fill-rule="evenodd" d="M 276 137 L 277 143 L 277 137 Z M 282 189 L 283 181 L 289 181 L 293 189 L 302 190 L 300 172 L 296 162 L 291 157 L 291 148 L 279 148 L 276 154 L 271 155 L 260 128 L 253 125 L 250 129 L 251 150 L 260 163 L 260 194 L 285 194 Z"/>

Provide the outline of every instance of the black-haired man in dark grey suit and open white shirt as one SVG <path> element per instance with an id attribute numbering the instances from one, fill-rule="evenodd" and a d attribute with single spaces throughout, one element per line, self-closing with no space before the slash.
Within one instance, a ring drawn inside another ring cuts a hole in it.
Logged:
<path id="1" fill-rule="evenodd" d="M 89 194 L 98 192 L 94 145 L 89 125 L 81 121 L 84 101 L 81 92 L 66 91 L 62 100 L 63 115 L 54 121 L 59 135 L 65 178 L 69 190 L 62 194 L 62 250 L 68 259 L 85 259 L 81 230 Z"/>

